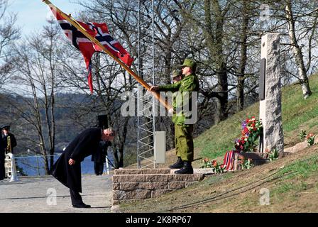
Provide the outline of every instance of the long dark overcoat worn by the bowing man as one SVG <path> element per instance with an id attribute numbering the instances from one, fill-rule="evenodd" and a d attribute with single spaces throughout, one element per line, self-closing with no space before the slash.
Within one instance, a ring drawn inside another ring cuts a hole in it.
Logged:
<path id="1" fill-rule="evenodd" d="M 100 128 L 88 128 L 79 133 L 53 165 L 53 177 L 73 191 L 82 192 L 81 162 L 96 152 L 101 138 Z M 75 160 L 74 165 L 68 164 L 70 158 Z"/>

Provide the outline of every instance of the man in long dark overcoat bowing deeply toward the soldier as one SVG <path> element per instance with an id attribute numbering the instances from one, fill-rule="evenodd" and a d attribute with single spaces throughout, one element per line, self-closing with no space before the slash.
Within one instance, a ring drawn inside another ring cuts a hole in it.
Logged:
<path id="1" fill-rule="evenodd" d="M 81 162 L 85 157 L 96 153 L 99 141 L 111 141 L 115 133 L 111 128 L 88 128 L 67 146 L 65 152 L 60 155 L 53 165 L 52 175 L 66 187 L 70 188 L 73 207 L 89 208 L 84 204 L 82 196 Z"/>

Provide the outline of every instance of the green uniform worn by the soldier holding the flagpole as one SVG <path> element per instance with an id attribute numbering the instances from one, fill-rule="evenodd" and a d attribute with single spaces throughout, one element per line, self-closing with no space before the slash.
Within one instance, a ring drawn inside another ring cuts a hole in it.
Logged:
<path id="1" fill-rule="evenodd" d="M 186 116 L 182 113 L 181 108 L 182 94 L 188 92 L 189 100 L 191 101 L 192 92 L 199 92 L 199 80 L 197 76 L 192 73 L 175 84 L 168 84 L 159 86 L 159 92 L 175 92 L 172 96 L 172 106 L 175 111 L 179 111 L 172 116 L 172 121 L 175 123 L 175 150 L 176 155 L 181 157 L 182 161 L 193 161 L 193 125 L 185 124 Z M 179 92 L 179 95 L 176 93 Z M 191 103 L 190 103 L 191 106 Z M 191 107 L 190 107 L 191 109 Z"/>

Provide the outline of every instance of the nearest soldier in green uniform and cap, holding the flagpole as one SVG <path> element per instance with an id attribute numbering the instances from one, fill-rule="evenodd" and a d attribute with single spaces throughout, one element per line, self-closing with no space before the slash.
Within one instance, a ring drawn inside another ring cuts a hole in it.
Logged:
<path id="1" fill-rule="evenodd" d="M 191 107 L 192 92 L 199 92 L 199 79 L 197 79 L 197 75 L 195 74 L 197 64 L 194 60 L 185 59 L 181 67 L 184 77 L 179 82 L 153 86 L 150 88 L 150 92 L 178 92 L 173 102 L 175 113 L 172 116 L 172 121 L 175 123 L 175 150 L 178 158 L 175 164 L 170 165 L 170 168 L 181 168 L 175 172 L 176 174 L 192 174 L 193 168 L 191 162 L 194 157 L 193 124 L 187 123 L 187 116 L 182 107 L 185 107 L 187 103 Z M 184 94 L 187 94 L 187 96 L 184 96 Z"/>

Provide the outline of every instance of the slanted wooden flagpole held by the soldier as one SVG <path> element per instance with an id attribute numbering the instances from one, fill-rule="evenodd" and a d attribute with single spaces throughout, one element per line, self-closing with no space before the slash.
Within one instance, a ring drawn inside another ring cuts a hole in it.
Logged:
<path id="1" fill-rule="evenodd" d="M 128 67 L 124 62 L 121 62 L 121 60 L 119 60 L 115 55 L 113 55 L 109 50 L 107 50 L 104 47 L 104 45 L 102 45 L 102 43 L 99 43 L 99 40 L 92 37 L 92 35 L 90 35 L 85 30 L 85 28 L 83 28 L 79 23 L 77 23 L 77 21 L 73 20 L 71 16 L 68 16 L 67 14 L 60 11 L 60 9 L 58 9 L 55 5 L 53 5 L 49 0 L 42 0 L 42 1 L 45 2 L 45 4 L 48 4 L 48 6 L 52 6 L 55 9 L 55 11 L 60 13 L 65 18 L 65 20 L 67 20 L 68 22 L 72 24 L 72 26 L 75 26 L 75 28 L 81 31 L 87 38 L 89 38 L 89 40 L 91 40 L 93 43 L 98 45 L 99 48 L 102 48 L 102 50 L 104 50 L 104 52 L 106 52 L 109 56 L 114 58 L 114 60 L 118 62 L 119 65 L 121 65 L 121 67 L 123 67 L 129 74 L 131 74 L 131 76 L 133 76 L 139 84 L 141 84 L 144 88 L 146 88 L 149 91 L 150 89 L 149 84 L 147 84 L 143 79 L 141 79 L 141 77 L 139 77 L 138 74 L 133 72 L 133 70 L 131 70 L 131 68 Z M 158 101 L 160 101 L 161 104 L 163 104 L 163 106 L 165 106 L 166 109 L 168 109 L 168 111 L 172 111 L 172 106 L 168 102 L 166 102 L 165 99 L 163 99 L 158 92 L 151 92 L 151 93 L 153 94 L 153 96 L 155 96 L 156 99 L 158 99 Z"/>

